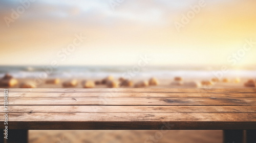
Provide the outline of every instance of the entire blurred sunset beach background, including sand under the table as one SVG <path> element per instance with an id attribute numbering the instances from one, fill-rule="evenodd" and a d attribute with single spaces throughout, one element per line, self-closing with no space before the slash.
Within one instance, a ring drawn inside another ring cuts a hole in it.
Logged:
<path id="1" fill-rule="evenodd" d="M 253 0 L 0 0 L 0 86 L 255 88 L 255 8 Z M 144 142 L 154 133 L 30 131 L 30 142 Z M 170 131 L 159 142 L 221 137 Z"/>

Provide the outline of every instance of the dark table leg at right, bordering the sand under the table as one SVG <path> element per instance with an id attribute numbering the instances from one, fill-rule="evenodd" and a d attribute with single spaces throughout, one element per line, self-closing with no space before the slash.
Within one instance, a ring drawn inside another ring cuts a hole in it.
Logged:
<path id="1" fill-rule="evenodd" d="M 243 130 L 223 130 L 223 143 L 242 143 Z"/>

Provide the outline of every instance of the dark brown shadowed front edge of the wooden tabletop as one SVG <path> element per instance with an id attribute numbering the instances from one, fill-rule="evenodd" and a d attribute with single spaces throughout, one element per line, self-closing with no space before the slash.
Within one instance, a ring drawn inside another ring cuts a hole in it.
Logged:
<path id="1" fill-rule="evenodd" d="M 9 122 L 29 130 L 249 130 L 255 122 Z M 2 123 L 1 123 L 2 124 Z M 166 128 L 169 127 L 169 128 Z"/>

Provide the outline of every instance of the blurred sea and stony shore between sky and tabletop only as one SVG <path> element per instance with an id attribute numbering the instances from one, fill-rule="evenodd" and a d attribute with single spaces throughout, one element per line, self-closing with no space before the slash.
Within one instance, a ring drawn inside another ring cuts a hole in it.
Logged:
<path id="1" fill-rule="evenodd" d="M 17 84 L 9 88 L 255 87 L 246 86 L 246 83 L 250 81 L 255 85 L 256 67 L 228 68 L 226 71 L 218 69 L 221 69 L 221 66 L 149 66 L 138 69 L 134 66 L 1 66 L 0 77 L 3 78 L 8 73 L 17 80 Z M 155 83 L 151 84 L 152 78 Z M 90 82 L 84 83 L 86 81 Z M 108 81 L 113 82 L 109 85 Z M 124 81 L 130 82 L 130 85 L 122 84 Z M 70 85 L 70 82 L 73 84 Z M 26 86 L 27 84 L 31 86 Z"/>

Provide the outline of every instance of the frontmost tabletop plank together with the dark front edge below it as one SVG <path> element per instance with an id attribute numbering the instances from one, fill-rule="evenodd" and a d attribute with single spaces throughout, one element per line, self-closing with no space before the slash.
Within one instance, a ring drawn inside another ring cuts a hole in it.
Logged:
<path id="1" fill-rule="evenodd" d="M 255 113 L 10 113 L 9 129 L 255 129 Z M 19 120 L 14 121 L 14 119 Z M 225 120 L 222 120 L 225 119 Z M 113 121 L 112 121 L 113 120 Z M 0 122 L 2 124 L 3 122 Z M 166 128 L 165 128 L 166 129 Z"/>

